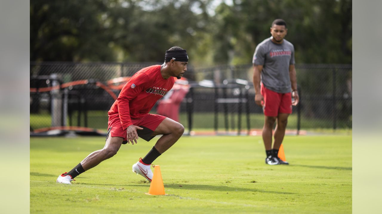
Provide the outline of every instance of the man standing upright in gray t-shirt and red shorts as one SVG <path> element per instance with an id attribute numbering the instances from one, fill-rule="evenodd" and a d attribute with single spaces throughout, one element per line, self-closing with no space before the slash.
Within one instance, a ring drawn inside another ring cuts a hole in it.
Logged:
<path id="1" fill-rule="evenodd" d="M 255 102 L 264 112 L 262 138 L 267 153 L 265 163 L 270 165 L 289 164 L 278 158 L 278 149 L 285 135 L 288 116 L 292 113 L 292 105 L 297 105 L 299 101 L 295 49 L 292 43 L 284 39 L 287 32 L 284 20 L 273 21 L 270 27 L 272 36 L 257 45 L 252 60 Z M 277 125 L 272 147 L 272 130 L 275 122 Z"/>

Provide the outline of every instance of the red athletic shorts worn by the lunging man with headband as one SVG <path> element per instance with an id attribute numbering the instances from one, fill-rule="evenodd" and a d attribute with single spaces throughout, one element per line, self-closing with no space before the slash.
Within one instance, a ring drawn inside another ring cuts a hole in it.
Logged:
<path id="1" fill-rule="evenodd" d="M 151 136 L 151 134 L 155 131 L 155 129 L 159 126 L 160 123 L 162 123 L 162 121 L 165 118 L 166 117 L 162 115 L 147 114 L 146 116 L 138 120 L 131 119 L 131 122 L 135 126 L 140 126 L 141 128 L 143 128 L 143 130 L 137 130 L 138 136 L 146 141 L 150 141 L 153 137 L 155 137 Z M 108 132 L 106 135 L 106 139 L 109 133 L 112 137 L 123 137 L 122 144 L 127 144 L 126 129 L 123 130 L 121 120 L 118 116 L 116 117 L 116 115 L 112 115 L 112 117 L 109 117 Z"/>

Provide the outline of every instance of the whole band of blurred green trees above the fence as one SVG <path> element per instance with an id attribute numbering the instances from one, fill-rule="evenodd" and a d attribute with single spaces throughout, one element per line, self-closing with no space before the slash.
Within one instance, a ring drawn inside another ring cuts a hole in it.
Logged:
<path id="1" fill-rule="evenodd" d="M 351 63 L 350 0 L 34 0 L 31 61 L 155 61 L 186 48 L 194 66 L 247 64 L 276 18 L 298 63 Z"/>

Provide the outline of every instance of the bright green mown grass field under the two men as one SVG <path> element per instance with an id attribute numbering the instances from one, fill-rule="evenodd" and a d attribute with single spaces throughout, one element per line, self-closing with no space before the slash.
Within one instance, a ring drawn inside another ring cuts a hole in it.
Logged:
<path id="1" fill-rule="evenodd" d="M 139 141 L 57 184 L 103 137 L 30 140 L 31 213 L 351 213 L 351 136 L 286 136 L 289 166 L 269 166 L 261 136 L 183 136 L 154 161 L 168 195 L 144 193 L 149 183 L 131 165 L 155 143 Z"/>

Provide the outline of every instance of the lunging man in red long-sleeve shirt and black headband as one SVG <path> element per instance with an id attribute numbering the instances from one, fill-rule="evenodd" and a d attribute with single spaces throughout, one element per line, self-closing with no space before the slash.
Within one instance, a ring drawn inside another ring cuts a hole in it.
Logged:
<path id="1" fill-rule="evenodd" d="M 108 111 L 105 147 L 89 154 L 70 172 L 58 176 L 57 182 L 71 184 L 74 177 L 117 154 L 121 144 L 131 142 L 133 145 L 138 137 L 150 141 L 154 136 L 163 135 L 149 153 L 133 165 L 133 172 L 151 182 L 151 163 L 178 141 L 185 128 L 170 118 L 149 114 L 149 111 L 170 91 L 175 82 L 173 77 L 180 79 L 183 76 L 187 64 L 186 50 L 172 47 L 166 51 L 162 65 L 152 65 L 135 73 Z"/>

